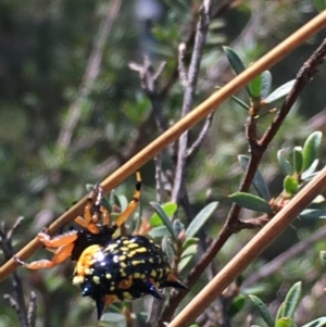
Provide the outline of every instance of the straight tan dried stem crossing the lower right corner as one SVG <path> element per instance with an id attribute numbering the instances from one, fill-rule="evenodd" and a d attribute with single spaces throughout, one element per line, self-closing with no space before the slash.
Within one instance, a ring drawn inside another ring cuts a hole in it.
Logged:
<path id="1" fill-rule="evenodd" d="M 280 232 L 288 227 L 311 201 L 326 189 L 326 167 L 292 201 L 261 229 L 252 240 L 212 279 L 203 290 L 168 324 L 189 326 L 233 280 L 249 266 Z"/>

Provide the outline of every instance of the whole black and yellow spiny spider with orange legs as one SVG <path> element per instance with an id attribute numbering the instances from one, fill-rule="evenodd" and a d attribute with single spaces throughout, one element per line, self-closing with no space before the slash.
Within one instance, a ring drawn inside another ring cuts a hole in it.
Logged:
<path id="1" fill-rule="evenodd" d="M 50 251 L 51 260 L 25 263 L 29 269 L 52 268 L 67 257 L 76 261 L 73 284 L 79 286 L 83 297 L 96 301 L 98 318 L 104 306 L 114 301 L 128 301 L 151 294 L 161 300 L 158 288 L 186 289 L 172 273 L 162 249 L 145 236 L 113 237 L 116 229 L 135 211 L 140 199 L 141 177 L 136 173 L 136 190 L 127 209 L 110 225 L 109 211 L 101 205 L 102 188 L 97 185 L 85 206 L 84 216 L 75 222 L 83 228 L 51 238 L 39 232 L 38 239 Z M 100 224 L 101 221 L 101 224 Z"/>

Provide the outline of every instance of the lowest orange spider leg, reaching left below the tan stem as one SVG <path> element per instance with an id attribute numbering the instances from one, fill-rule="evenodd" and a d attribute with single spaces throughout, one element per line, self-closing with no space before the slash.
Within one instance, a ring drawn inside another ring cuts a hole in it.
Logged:
<path id="1" fill-rule="evenodd" d="M 72 251 L 74 249 L 74 243 L 70 243 L 64 247 L 60 247 L 55 254 L 52 256 L 51 260 L 38 260 L 38 261 L 33 261 L 30 263 L 26 263 L 23 260 L 20 260 L 17 256 L 14 256 L 15 261 L 23 265 L 24 267 L 28 269 L 50 269 L 53 268 L 54 266 L 59 265 L 63 261 L 65 261 L 70 255 L 72 254 Z"/>

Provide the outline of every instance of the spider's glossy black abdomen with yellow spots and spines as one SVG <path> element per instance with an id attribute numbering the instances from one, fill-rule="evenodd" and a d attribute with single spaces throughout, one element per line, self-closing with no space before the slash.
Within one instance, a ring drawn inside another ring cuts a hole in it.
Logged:
<path id="1" fill-rule="evenodd" d="M 105 246 L 90 246 L 79 256 L 73 282 L 83 295 L 97 302 L 98 314 L 113 301 L 129 301 L 151 294 L 156 288 L 185 288 L 171 273 L 162 249 L 143 236 L 122 236 Z"/>

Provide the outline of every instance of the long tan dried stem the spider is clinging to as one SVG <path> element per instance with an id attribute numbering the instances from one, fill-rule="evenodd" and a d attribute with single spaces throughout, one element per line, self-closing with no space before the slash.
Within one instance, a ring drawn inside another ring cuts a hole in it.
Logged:
<path id="1" fill-rule="evenodd" d="M 293 33 L 290 37 L 275 47 L 272 51 L 256 61 L 252 66 L 246 70 L 242 74 L 235 77 L 230 83 L 224 86 L 218 91 L 214 92 L 209 99 L 193 109 L 189 114 L 178 121 L 174 126 L 168 128 L 160 137 L 153 140 L 145 149 L 138 152 L 134 158 L 110 175 L 102 181 L 104 192 L 109 192 L 111 189 L 121 184 L 129 175 L 139 169 L 145 163 L 151 160 L 160 151 L 166 148 L 171 142 L 176 140 L 183 133 L 195 126 L 201 120 L 203 120 L 212 111 L 223 103 L 230 96 L 243 88 L 252 78 L 261 74 L 263 71 L 268 70 L 275 63 L 280 61 L 285 55 L 299 47 L 306 39 L 315 35 L 318 30 L 326 26 L 326 11 L 318 14 L 312 21 L 306 23 L 303 27 Z M 49 227 L 49 234 L 53 234 L 60 228 L 60 226 L 72 222 L 78 214 L 83 212 L 86 205 L 87 197 L 84 197 L 79 202 L 72 206 L 68 211 L 62 214 L 51 226 Z M 24 249 L 22 249 L 17 255 L 22 260 L 28 259 L 36 250 L 41 247 L 37 238 L 33 239 Z M 0 269 L 0 280 L 4 279 L 10 273 L 17 267 L 17 263 L 12 259 L 7 262 Z"/>

